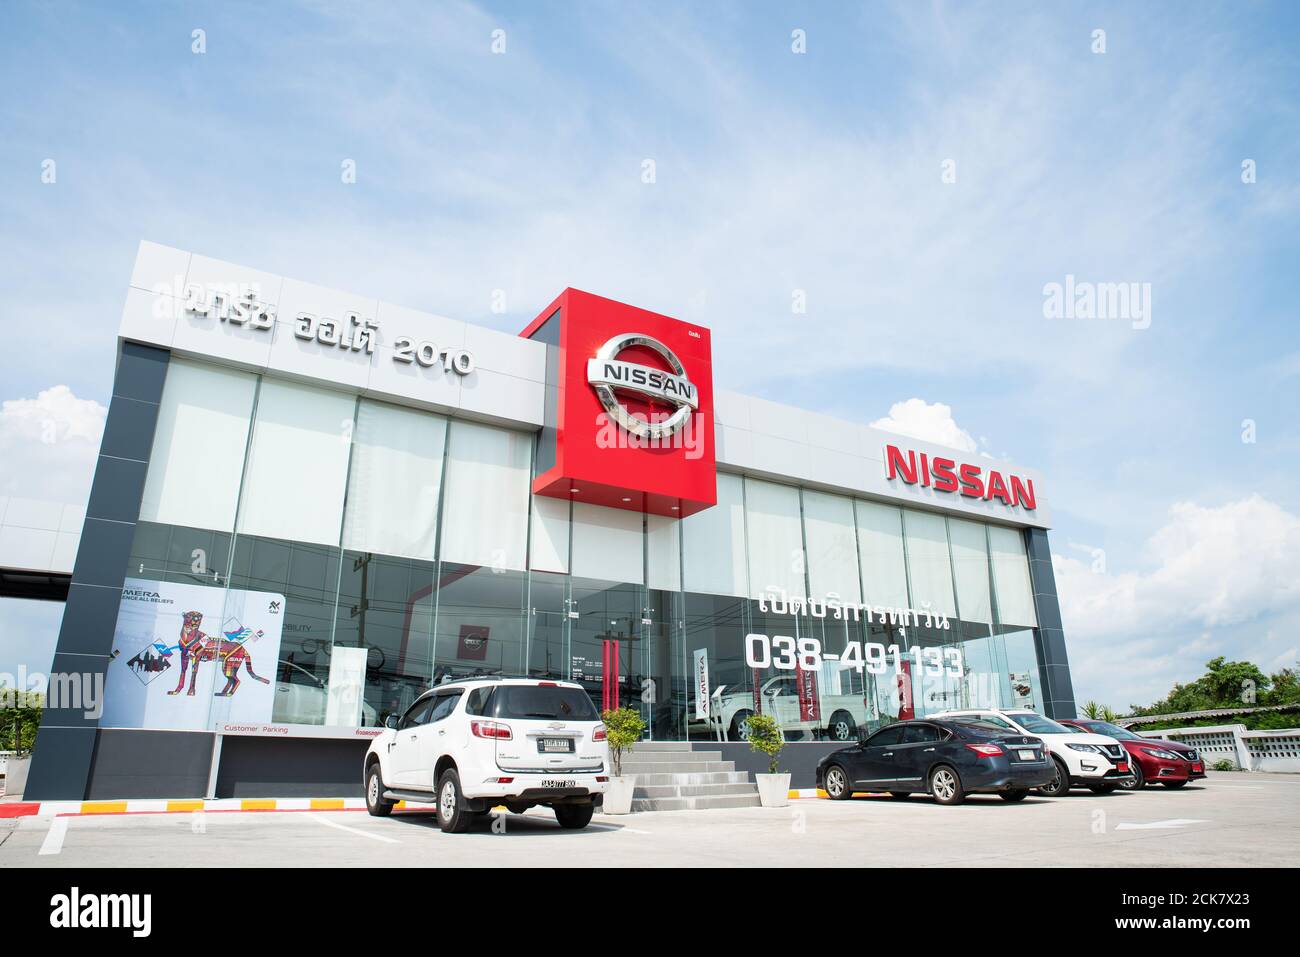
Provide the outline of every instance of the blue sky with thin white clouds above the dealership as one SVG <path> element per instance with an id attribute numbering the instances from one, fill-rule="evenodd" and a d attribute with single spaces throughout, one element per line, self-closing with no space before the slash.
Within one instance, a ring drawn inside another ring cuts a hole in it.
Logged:
<path id="1" fill-rule="evenodd" d="M 0 494 L 84 497 L 142 238 L 512 332 L 572 285 L 711 326 L 725 387 L 1041 468 L 1080 700 L 1292 663 L 1297 40 L 1290 3 L 5 4 Z M 1150 326 L 1045 319 L 1066 276 Z M 8 603 L 0 671 L 56 627 Z"/>

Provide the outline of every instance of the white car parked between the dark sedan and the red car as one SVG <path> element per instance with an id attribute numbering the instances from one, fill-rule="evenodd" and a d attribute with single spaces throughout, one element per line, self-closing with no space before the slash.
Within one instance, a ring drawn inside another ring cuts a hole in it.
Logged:
<path id="1" fill-rule="evenodd" d="M 1098 794 L 1105 794 L 1132 778 L 1132 770 L 1128 767 L 1128 753 L 1115 739 L 1105 735 L 1082 733 L 1063 724 L 1057 724 L 1036 711 L 971 709 L 967 711 L 941 711 L 927 715 L 927 718 L 979 722 L 1043 739 L 1048 750 L 1052 752 L 1057 767 L 1053 781 L 1039 788 L 1048 797 L 1060 797 L 1070 788 L 1089 788 Z"/>

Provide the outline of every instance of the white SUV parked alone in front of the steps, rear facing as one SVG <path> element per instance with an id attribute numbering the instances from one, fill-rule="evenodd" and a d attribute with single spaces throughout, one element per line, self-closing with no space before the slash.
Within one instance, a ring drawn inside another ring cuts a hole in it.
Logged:
<path id="1" fill-rule="evenodd" d="M 443 831 L 504 805 L 554 809 L 581 828 L 608 787 L 610 746 L 590 696 L 571 681 L 474 677 L 425 692 L 365 753 L 365 806 L 433 802 Z"/>

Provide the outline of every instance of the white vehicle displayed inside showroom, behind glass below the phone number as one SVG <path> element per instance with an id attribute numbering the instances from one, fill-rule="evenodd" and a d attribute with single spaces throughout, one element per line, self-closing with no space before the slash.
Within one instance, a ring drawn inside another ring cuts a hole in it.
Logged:
<path id="1" fill-rule="evenodd" d="M 807 720 L 800 706 L 800 685 L 794 674 L 783 674 L 763 681 L 759 693 L 763 700 L 763 713 L 770 714 L 780 723 L 781 729 L 789 735 L 798 731 L 811 739 L 828 739 L 831 741 L 857 741 L 858 720 L 854 715 L 863 714 L 864 693 L 852 688 L 853 672 L 841 672 L 841 690 L 849 688 L 848 693 L 833 693 L 827 689 L 818 689 L 816 703 L 819 718 Z M 861 685 L 861 677 L 857 679 Z M 754 714 L 754 692 L 748 689 L 728 690 L 723 687 L 723 693 L 714 700 L 712 707 L 716 713 L 712 716 L 715 723 L 720 723 L 727 732 L 729 741 L 749 740 L 749 716 Z M 692 724 L 703 726 L 703 719 L 693 719 Z M 698 729 L 698 728 L 697 728 Z"/>

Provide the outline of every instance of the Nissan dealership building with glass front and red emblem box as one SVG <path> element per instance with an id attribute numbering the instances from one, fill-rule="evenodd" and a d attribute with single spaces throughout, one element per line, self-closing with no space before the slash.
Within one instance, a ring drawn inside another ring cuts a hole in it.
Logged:
<path id="1" fill-rule="evenodd" d="M 796 770 L 1074 716 L 1043 477 L 715 390 L 711 350 L 577 290 L 511 335 L 142 243 L 52 668 L 103 701 L 46 710 L 27 797 L 360 794 L 385 718 L 472 675 L 736 759 L 771 714 Z"/>

